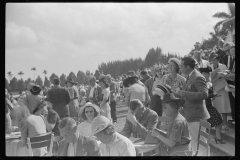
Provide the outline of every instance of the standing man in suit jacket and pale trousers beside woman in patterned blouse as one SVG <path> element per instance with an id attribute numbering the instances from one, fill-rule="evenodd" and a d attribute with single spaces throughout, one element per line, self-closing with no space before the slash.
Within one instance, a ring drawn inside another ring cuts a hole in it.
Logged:
<path id="1" fill-rule="evenodd" d="M 210 115 L 204 101 L 208 97 L 207 82 L 204 76 L 194 67 L 195 60 L 193 58 L 184 57 L 182 59 L 181 72 L 188 76 L 183 90 L 179 90 L 177 94 L 185 100 L 182 115 L 189 124 L 192 147 L 196 151 L 200 119 L 209 119 Z"/>

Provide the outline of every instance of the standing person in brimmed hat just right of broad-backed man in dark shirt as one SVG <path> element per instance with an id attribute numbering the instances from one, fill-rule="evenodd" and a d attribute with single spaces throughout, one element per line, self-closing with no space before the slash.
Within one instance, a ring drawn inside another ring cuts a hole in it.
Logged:
<path id="1" fill-rule="evenodd" d="M 70 117 L 77 118 L 78 117 L 78 111 L 79 111 L 79 104 L 78 104 L 79 94 L 78 94 L 77 87 L 75 86 L 76 83 L 70 77 L 65 82 L 65 84 L 68 87 L 68 93 L 69 93 L 69 96 L 70 96 L 70 103 L 68 104 Z"/>

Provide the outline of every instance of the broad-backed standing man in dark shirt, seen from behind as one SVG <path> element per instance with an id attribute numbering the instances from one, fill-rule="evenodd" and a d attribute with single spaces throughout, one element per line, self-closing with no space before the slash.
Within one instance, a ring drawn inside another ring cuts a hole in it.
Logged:
<path id="1" fill-rule="evenodd" d="M 69 106 L 68 103 L 70 102 L 70 96 L 68 90 L 61 87 L 60 79 L 54 78 L 53 79 L 53 87 L 47 93 L 47 101 L 52 104 L 52 109 L 55 110 L 60 119 L 64 117 L 69 117 Z"/>

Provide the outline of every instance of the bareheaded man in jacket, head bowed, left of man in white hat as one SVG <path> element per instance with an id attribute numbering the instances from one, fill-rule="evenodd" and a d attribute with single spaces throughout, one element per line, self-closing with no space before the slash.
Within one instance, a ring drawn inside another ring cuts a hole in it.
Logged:
<path id="1" fill-rule="evenodd" d="M 64 118 L 58 125 L 61 136 L 64 137 L 58 147 L 58 156 L 100 156 L 97 141 L 77 132 L 76 121 L 70 117 Z"/>

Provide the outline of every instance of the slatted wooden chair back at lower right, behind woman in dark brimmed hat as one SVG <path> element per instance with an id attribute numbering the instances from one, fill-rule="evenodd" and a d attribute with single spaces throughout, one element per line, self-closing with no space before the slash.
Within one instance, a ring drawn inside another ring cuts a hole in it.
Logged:
<path id="1" fill-rule="evenodd" d="M 203 150 L 202 148 L 200 148 L 200 146 L 206 148 L 207 155 L 209 155 L 210 131 L 211 124 L 208 123 L 207 121 L 200 120 L 197 150 Z M 196 152 L 195 155 L 198 155 L 198 152 Z"/>

